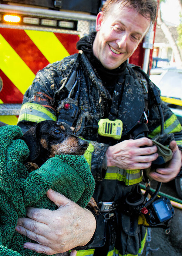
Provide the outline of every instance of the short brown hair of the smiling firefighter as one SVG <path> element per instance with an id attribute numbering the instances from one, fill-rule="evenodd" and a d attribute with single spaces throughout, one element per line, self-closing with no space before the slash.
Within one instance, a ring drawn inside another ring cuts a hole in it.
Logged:
<path id="1" fill-rule="evenodd" d="M 103 14 L 109 12 L 110 6 L 113 3 L 121 3 L 121 5 L 127 5 L 129 8 L 136 9 L 145 18 L 150 18 L 151 23 L 154 23 L 157 16 L 157 1 L 156 0 L 106 0 L 103 5 Z"/>

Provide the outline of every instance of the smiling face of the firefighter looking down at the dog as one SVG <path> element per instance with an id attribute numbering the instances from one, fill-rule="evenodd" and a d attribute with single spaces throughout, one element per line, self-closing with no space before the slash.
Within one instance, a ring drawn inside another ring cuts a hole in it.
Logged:
<path id="1" fill-rule="evenodd" d="M 116 69 L 133 54 L 149 27 L 150 18 L 115 3 L 104 17 L 103 12 L 97 15 L 93 53 L 105 68 Z"/>

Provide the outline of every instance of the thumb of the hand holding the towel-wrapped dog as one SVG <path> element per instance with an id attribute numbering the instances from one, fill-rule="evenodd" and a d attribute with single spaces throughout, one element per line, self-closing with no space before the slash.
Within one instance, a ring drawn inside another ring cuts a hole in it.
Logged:
<path id="1" fill-rule="evenodd" d="M 65 206 L 65 205 L 70 205 L 70 204 L 73 203 L 67 197 L 65 197 L 64 195 L 52 190 L 51 188 L 49 190 L 47 190 L 46 195 L 58 207 L 62 207 L 62 206 Z"/>

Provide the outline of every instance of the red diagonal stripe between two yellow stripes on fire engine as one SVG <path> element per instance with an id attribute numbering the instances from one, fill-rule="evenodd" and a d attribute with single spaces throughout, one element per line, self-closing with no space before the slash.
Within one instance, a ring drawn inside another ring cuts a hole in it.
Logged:
<path id="1" fill-rule="evenodd" d="M 0 33 L 34 74 L 49 64 L 24 30 L 0 28 Z"/>

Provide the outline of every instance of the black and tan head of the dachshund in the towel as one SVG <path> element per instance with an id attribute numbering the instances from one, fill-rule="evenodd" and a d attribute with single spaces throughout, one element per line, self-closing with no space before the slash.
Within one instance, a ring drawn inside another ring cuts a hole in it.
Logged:
<path id="1" fill-rule="evenodd" d="M 22 137 L 28 145 L 28 161 L 42 164 L 55 155 L 83 155 L 89 146 L 75 135 L 74 128 L 58 121 L 45 120 L 31 127 Z"/>

